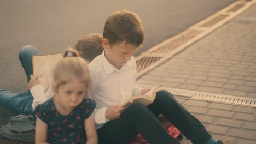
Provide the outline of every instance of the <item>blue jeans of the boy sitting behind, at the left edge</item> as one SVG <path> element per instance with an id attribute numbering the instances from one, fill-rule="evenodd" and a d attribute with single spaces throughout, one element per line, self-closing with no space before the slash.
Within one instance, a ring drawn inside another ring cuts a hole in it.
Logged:
<path id="1" fill-rule="evenodd" d="M 32 55 L 39 55 L 36 47 L 26 45 L 19 52 L 19 59 L 27 75 L 27 82 L 33 74 Z M 0 89 L 0 105 L 8 109 L 14 115 L 28 115 L 33 113 L 33 97 L 28 90 L 26 93 L 15 93 L 8 89 Z"/>

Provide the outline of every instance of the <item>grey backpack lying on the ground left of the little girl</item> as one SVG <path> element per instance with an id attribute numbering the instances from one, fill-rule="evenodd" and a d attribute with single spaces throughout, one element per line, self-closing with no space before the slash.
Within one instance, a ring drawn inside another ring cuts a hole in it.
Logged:
<path id="1" fill-rule="evenodd" d="M 0 128 L 0 134 L 5 139 L 23 142 L 34 142 L 36 117 L 34 115 L 19 115 L 10 117 L 10 122 Z"/>

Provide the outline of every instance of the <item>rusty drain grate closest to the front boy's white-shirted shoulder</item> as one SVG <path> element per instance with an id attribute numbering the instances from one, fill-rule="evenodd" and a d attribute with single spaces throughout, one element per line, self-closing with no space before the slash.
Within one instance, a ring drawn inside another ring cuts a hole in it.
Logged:
<path id="1" fill-rule="evenodd" d="M 143 57 L 136 61 L 137 64 L 137 72 L 147 68 L 150 64 L 158 61 L 161 57 Z"/>

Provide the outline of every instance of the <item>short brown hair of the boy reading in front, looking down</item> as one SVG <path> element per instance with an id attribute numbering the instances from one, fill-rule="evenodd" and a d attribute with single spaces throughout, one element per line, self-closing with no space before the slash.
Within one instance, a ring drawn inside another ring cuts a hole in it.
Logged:
<path id="1" fill-rule="evenodd" d="M 144 40 L 144 28 L 137 14 L 124 9 L 108 17 L 103 38 L 106 38 L 110 45 L 126 41 L 139 47 Z"/>

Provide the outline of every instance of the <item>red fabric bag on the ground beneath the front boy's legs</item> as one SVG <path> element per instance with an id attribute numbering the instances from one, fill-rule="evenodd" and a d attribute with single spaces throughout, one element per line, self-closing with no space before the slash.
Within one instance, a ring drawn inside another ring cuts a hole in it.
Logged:
<path id="1" fill-rule="evenodd" d="M 172 123 L 169 123 L 164 128 L 174 139 L 181 140 L 181 131 L 179 131 Z M 148 144 L 148 142 L 141 136 L 141 134 L 137 134 L 126 144 Z"/>

